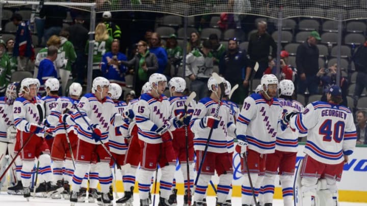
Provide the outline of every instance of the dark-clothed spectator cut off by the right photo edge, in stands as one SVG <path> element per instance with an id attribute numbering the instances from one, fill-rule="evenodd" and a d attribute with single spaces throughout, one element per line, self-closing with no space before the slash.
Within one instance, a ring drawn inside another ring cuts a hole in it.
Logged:
<path id="1" fill-rule="evenodd" d="M 356 86 L 353 94 L 354 105 L 357 105 L 359 96 L 363 89 L 367 90 L 367 38 L 361 44 L 352 56 L 357 73 Z"/>

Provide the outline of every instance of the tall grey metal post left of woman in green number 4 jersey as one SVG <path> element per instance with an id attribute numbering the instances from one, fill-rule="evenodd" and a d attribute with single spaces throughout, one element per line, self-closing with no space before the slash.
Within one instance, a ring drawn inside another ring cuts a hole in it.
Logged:
<path id="1" fill-rule="evenodd" d="M 88 72 L 87 72 L 87 92 L 92 89 L 93 73 L 93 48 L 94 48 L 94 29 L 95 29 L 95 5 L 91 6 L 90 24 L 89 24 L 89 47 L 88 47 Z"/>

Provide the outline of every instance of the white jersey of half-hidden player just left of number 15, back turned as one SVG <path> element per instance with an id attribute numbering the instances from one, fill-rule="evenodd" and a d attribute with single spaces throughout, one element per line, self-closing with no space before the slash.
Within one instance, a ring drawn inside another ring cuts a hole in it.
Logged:
<path id="1" fill-rule="evenodd" d="M 124 110 L 127 107 L 126 102 L 117 101 L 114 102 L 114 112 L 123 115 Z M 123 155 L 126 153 L 127 144 L 125 143 L 125 136 L 128 133 L 128 124 L 124 123 L 122 126 L 114 127 L 110 126 L 109 132 L 109 146 L 110 151 L 115 154 Z"/>

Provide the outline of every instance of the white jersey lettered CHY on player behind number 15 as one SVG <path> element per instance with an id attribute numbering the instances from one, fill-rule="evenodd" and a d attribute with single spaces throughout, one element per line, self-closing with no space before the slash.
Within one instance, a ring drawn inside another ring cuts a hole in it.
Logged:
<path id="1" fill-rule="evenodd" d="M 182 114 L 185 113 L 185 102 L 187 100 L 187 96 L 182 96 L 182 97 L 170 97 L 169 98 L 169 102 L 170 102 L 170 116 L 171 117 L 174 117 L 174 116 L 177 116 L 179 114 Z M 188 108 L 187 108 L 187 113 L 188 115 L 192 115 L 194 113 L 194 110 L 195 110 L 195 101 L 191 101 L 188 105 Z M 175 123 L 174 123 L 175 124 Z M 182 130 L 184 131 L 185 129 L 183 127 L 181 128 L 178 128 L 178 125 L 175 126 L 176 127 L 176 130 Z M 190 131 L 190 127 L 188 127 L 188 130 Z M 175 138 L 175 137 L 173 137 Z M 182 138 L 185 138 L 185 137 L 182 137 Z"/>

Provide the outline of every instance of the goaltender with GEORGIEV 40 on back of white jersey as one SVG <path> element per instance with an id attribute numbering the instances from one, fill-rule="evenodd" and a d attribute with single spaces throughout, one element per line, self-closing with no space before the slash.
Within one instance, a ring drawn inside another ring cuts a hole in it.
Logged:
<path id="1" fill-rule="evenodd" d="M 333 198 L 337 194 L 336 182 L 342 178 L 344 163 L 355 149 L 353 114 L 339 105 L 343 101 L 342 89 L 331 86 L 326 96 L 328 102 L 312 102 L 302 113 L 288 112 L 283 117 L 291 128 L 308 132 L 300 168 L 300 201 L 296 205 L 338 205 L 337 197 Z"/>

